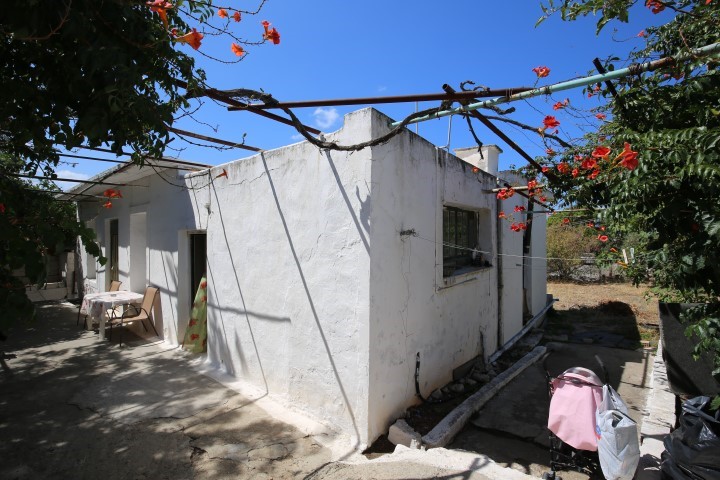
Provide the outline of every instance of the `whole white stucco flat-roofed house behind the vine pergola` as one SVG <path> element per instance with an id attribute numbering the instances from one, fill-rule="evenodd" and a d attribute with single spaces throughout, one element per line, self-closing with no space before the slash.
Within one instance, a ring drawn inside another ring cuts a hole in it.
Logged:
<path id="1" fill-rule="evenodd" d="M 389 121 L 360 110 L 327 138 L 367 141 Z M 78 201 L 113 257 L 83 254 L 84 283 L 159 287 L 158 331 L 176 344 L 206 269 L 208 362 L 362 448 L 418 402 L 418 354 L 427 395 L 546 306 L 544 262 L 523 267 L 525 232 L 498 229 L 500 150 L 476 151 L 461 160 L 407 130 L 355 153 L 302 142 L 190 173 L 105 172 L 128 185 L 110 209 Z M 533 223 L 530 257 L 545 256 L 544 229 Z"/>

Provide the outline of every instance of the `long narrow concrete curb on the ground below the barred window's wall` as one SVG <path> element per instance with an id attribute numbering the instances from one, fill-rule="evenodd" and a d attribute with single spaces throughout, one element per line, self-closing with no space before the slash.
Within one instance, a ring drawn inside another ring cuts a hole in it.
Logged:
<path id="1" fill-rule="evenodd" d="M 450 412 L 435 428 L 422 438 L 423 445 L 430 448 L 444 447 L 455 438 L 455 435 L 488 400 L 495 396 L 510 380 L 535 363 L 546 351 L 544 346 L 535 347 L 512 367 L 493 378 L 480 390 L 469 396 L 463 403 Z"/>

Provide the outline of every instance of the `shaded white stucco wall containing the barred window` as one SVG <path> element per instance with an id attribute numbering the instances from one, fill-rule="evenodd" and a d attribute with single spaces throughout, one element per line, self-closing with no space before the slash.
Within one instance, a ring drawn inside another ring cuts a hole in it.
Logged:
<path id="1" fill-rule="evenodd" d="M 387 120 L 374 124 L 378 136 Z M 453 369 L 492 353 L 497 336 L 495 267 L 449 280 L 442 272 L 443 205 L 484 211 L 481 235 L 496 251 L 494 197 L 483 192 L 494 181 L 409 131 L 372 155 L 371 439 L 417 401 L 418 352 L 420 390 L 429 395 Z"/>

